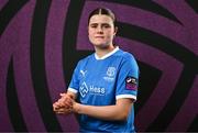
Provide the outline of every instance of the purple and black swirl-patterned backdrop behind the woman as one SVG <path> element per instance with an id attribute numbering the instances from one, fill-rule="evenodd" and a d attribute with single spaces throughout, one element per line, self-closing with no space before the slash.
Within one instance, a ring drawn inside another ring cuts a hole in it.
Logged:
<path id="1" fill-rule="evenodd" d="M 138 131 L 198 131 L 196 0 L 0 0 L 0 131 L 75 132 L 52 104 L 94 52 L 88 13 L 111 9 L 116 43 L 140 66 Z"/>

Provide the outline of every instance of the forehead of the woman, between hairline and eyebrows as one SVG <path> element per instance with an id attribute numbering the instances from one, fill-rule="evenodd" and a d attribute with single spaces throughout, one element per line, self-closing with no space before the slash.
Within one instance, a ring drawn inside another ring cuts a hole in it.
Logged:
<path id="1" fill-rule="evenodd" d="M 95 14 L 89 20 L 89 24 L 91 23 L 113 23 L 113 21 L 106 14 Z"/>

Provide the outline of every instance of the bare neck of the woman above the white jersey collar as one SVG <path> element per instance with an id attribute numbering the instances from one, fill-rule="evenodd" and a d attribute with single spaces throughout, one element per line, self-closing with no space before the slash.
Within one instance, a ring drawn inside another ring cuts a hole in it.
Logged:
<path id="1" fill-rule="evenodd" d="M 105 55 L 107 55 L 108 53 L 112 52 L 114 48 L 116 48 L 116 46 L 113 46 L 113 45 L 110 45 L 109 47 L 106 47 L 106 48 L 95 46 L 96 54 L 99 58 L 101 58 Z"/>

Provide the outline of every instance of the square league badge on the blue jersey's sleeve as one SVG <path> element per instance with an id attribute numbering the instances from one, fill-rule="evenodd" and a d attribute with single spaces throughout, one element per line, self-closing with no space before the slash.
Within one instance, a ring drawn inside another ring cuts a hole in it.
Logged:
<path id="1" fill-rule="evenodd" d="M 138 79 L 134 77 L 127 77 L 125 78 L 125 88 L 128 90 L 138 90 Z"/>

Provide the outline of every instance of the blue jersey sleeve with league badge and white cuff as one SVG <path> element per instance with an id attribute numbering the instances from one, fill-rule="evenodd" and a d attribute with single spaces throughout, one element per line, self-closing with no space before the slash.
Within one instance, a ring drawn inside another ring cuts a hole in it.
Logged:
<path id="1" fill-rule="evenodd" d="M 116 86 L 116 98 L 136 100 L 139 86 L 139 66 L 133 56 L 123 59 L 119 69 L 118 81 Z"/>

